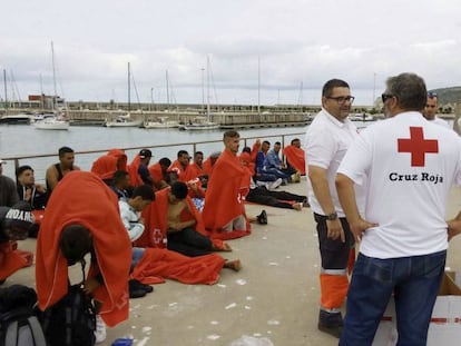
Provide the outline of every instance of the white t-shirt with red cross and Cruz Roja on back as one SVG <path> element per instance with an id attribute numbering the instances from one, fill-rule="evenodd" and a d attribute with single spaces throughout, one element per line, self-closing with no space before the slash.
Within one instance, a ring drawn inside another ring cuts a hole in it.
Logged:
<path id="1" fill-rule="evenodd" d="M 447 249 L 445 207 L 461 184 L 461 139 L 412 111 L 361 131 L 339 172 L 365 184 L 367 229 L 360 251 L 375 258 L 426 255 Z"/>

